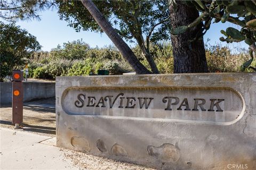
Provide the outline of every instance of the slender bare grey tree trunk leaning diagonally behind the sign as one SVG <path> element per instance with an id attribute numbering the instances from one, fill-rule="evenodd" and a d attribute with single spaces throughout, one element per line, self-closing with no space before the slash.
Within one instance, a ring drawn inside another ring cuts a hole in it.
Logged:
<path id="1" fill-rule="evenodd" d="M 124 40 L 117 34 L 111 24 L 104 18 L 97 6 L 92 1 L 81 0 L 83 5 L 87 8 L 94 20 L 100 25 L 101 29 L 115 44 L 123 57 L 132 66 L 137 74 L 150 74 L 151 72 L 140 63 L 138 58 L 134 55 L 131 48 L 124 42 Z"/>

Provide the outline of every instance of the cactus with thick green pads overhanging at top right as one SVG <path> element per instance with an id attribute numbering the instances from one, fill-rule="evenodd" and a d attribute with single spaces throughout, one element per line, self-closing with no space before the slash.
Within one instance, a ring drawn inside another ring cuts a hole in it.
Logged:
<path id="1" fill-rule="evenodd" d="M 170 0 L 173 2 L 173 0 Z M 188 30 L 197 29 L 198 27 L 204 30 L 204 33 L 210 29 L 212 23 L 230 22 L 236 24 L 237 30 L 233 27 L 228 27 L 226 31 L 221 30 L 221 33 L 226 37 L 220 37 L 220 41 L 227 43 L 244 41 L 249 45 L 249 54 L 251 59 L 241 65 L 241 71 L 247 67 L 256 71 L 256 68 L 250 66 L 253 61 L 253 52 L 256 54 L 256 1 L 183 1 L 187 6 L 194 7 L 201 14 L 190 21 L 183 23 L 179 27 L 171 28 L 171 32 L 180 35 Z M 176 4 L 176 3 L 175 3 Z M 177 3 L 178 4 L 178 3 Z M 214 22 L 212 22 L 212 20 Z M 204 22 L 202 24 L 202 22 Z M 195 39 L 202 39 L 204 33 L 196 34 Z"/>

